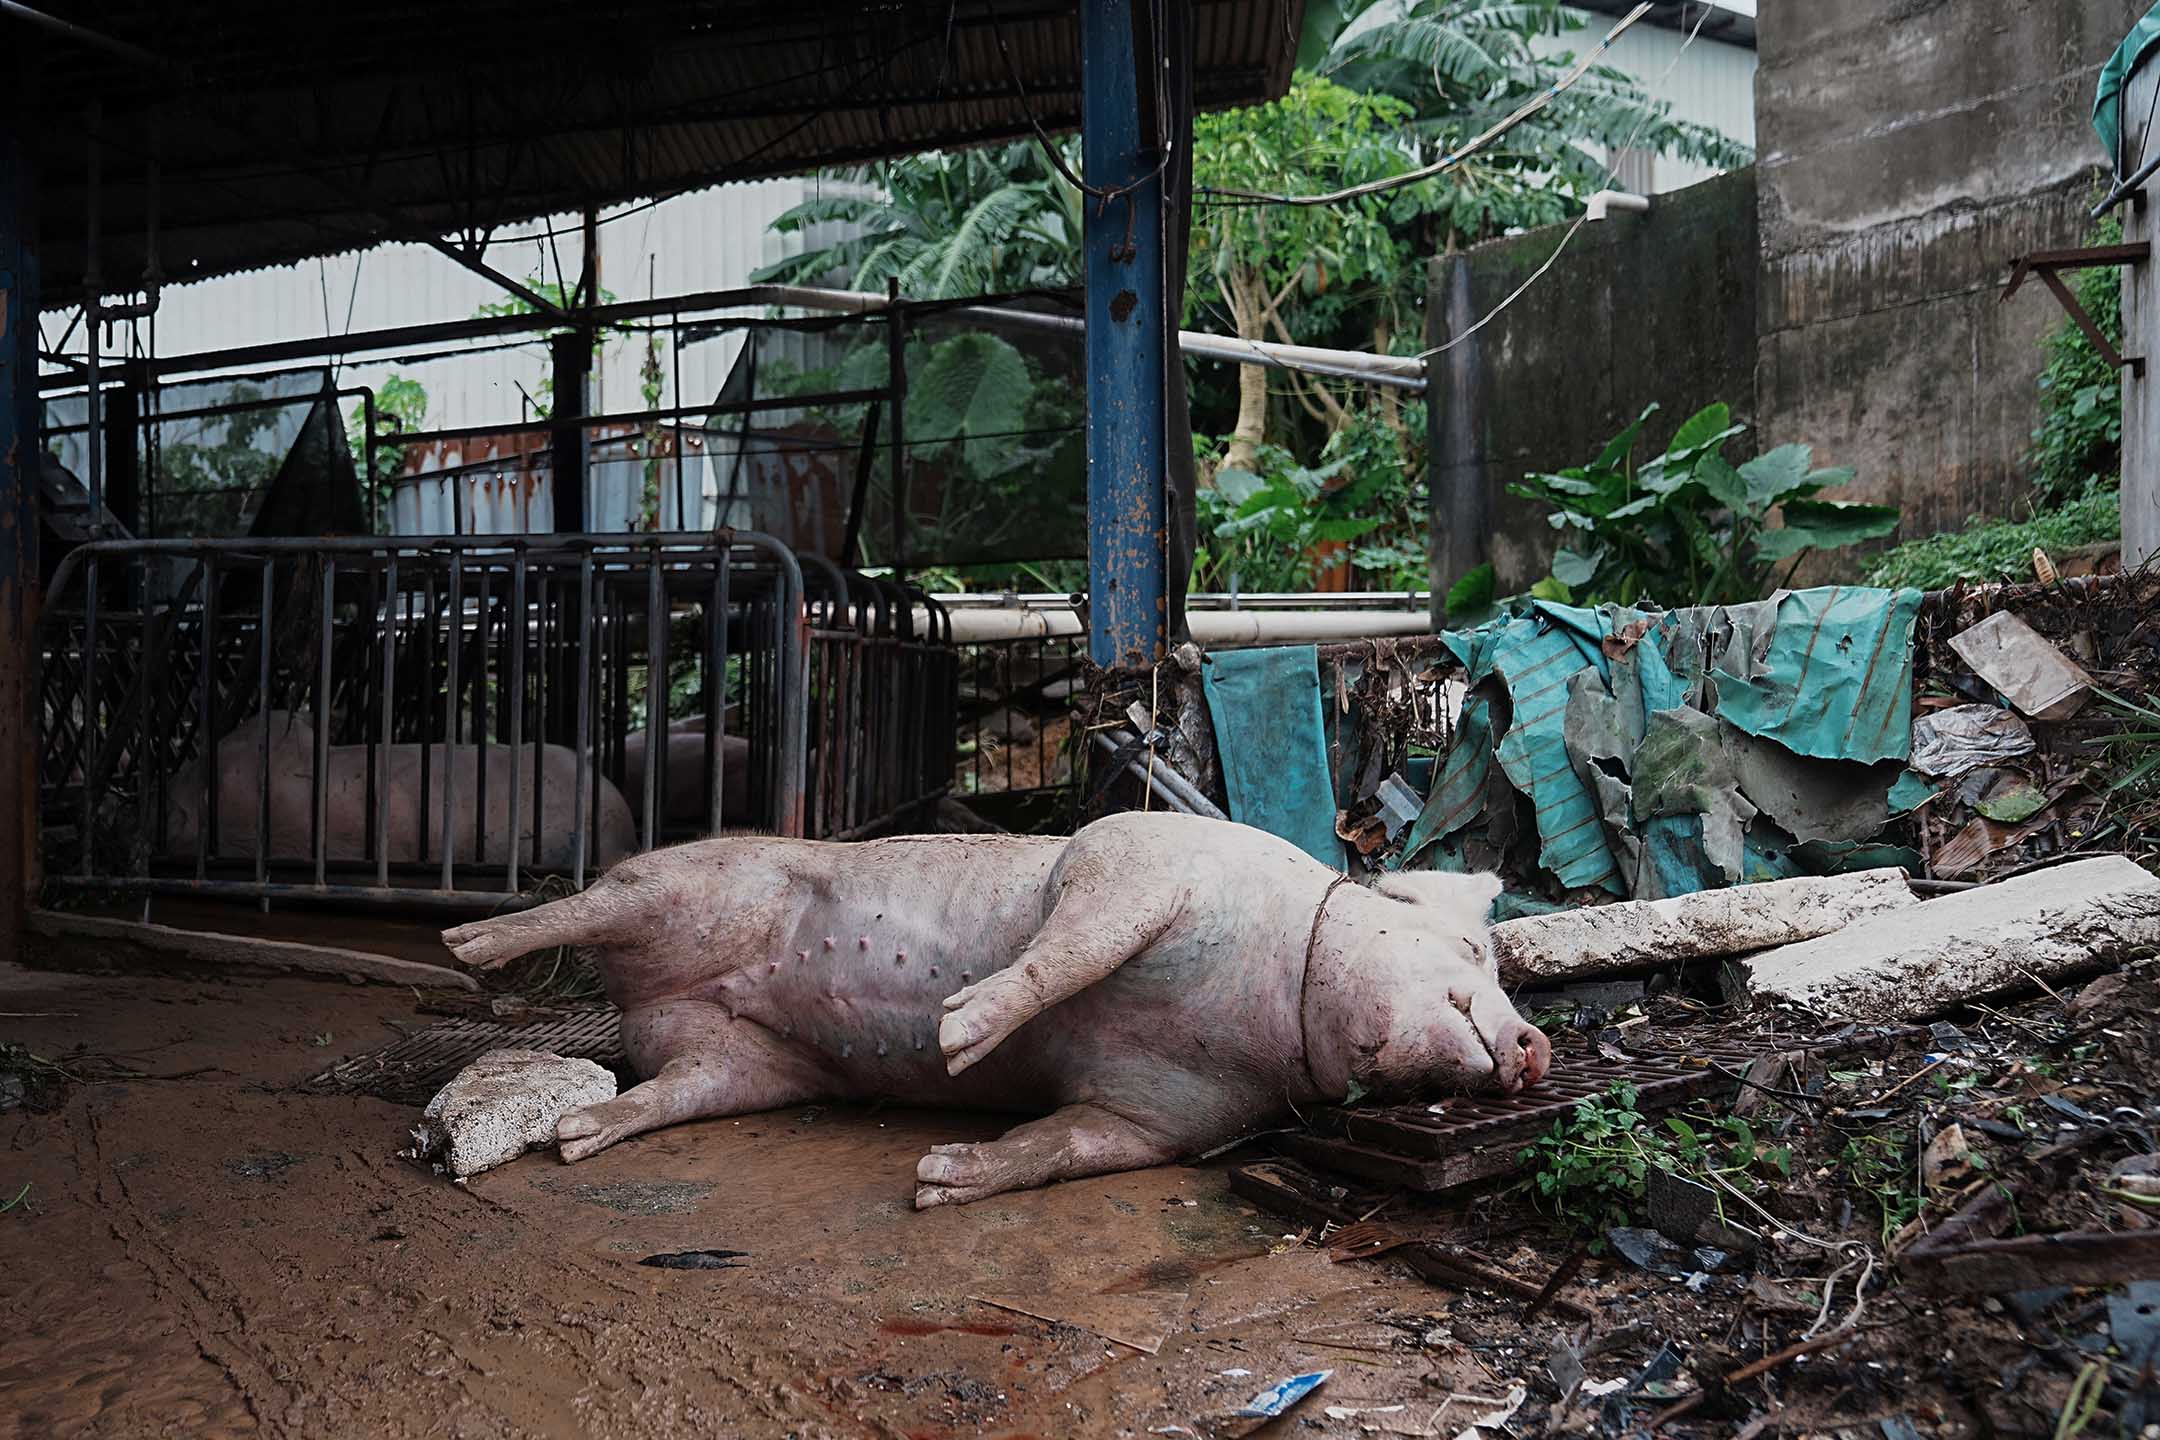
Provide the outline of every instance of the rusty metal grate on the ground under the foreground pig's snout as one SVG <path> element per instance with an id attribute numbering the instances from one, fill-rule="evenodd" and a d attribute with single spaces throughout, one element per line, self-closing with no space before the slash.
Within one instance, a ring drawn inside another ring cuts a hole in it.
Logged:
<path id="1" fill-rule="evenodd" d="M 1603 1095 L 1616 1082 L 1635 1086 L 1637 1110 L 1676 1110 L 1719 1086 L 1737 1088 L 1737 1077 L 1754 1060 L 1778 1051 L 1825 1056 L 1849 1049 L 1842 1043 L 1760 1036 L 1747 1045 L 1711 1043 L 1680 1051 L 1635 1054 L 1618 1060 L 1568 1056 L 1536 1090 L 1525 1095 L 1464 1095 L 1436 1105 L 1387 1105 L 1374 1110 L 1331 1110 L 1320 1116 L 1320 1136 L 1285 1136 L 1298 1159 L 1356 1174 L 1385 1185 L 1439 1192 L 1506 1174 L 1516 1153 L 1549 1131 L 1575 1105 Z"/>

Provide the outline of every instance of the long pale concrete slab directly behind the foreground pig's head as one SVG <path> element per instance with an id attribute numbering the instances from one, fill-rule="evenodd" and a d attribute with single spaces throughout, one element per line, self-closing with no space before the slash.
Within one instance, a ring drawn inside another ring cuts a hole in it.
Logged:
<path id="1" fill-rule="evenodd" d="M 1804 874 L 1523 915 L 1493 926 L 1501 984 L 1657 969 L 1830 935 L 1855 920 L 1918 905 L 1905 872 Z"/>

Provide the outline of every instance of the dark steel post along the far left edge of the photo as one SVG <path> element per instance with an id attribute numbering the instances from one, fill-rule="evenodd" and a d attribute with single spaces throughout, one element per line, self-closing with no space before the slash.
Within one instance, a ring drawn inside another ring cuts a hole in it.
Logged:
<path id="1" fill-rule="evenodd" d="M 17 26 L 19 30 L 19 26 Z M 13 71 L 13 73 L 9 73 Z M 0 67 L 0 950 L 30 911 L 37 857 L 37 225 L 28 56 Z"/>

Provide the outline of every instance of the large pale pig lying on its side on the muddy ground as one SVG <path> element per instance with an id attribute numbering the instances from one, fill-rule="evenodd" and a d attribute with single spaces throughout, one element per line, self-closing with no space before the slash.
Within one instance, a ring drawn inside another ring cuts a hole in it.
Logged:
<path id="1" fill-rule="evenodd" d="M 443 939 L 480 967 L 596 952 L 648 1079 L 564 1116 L 564 1159 L 834 1097 L 1052 1112 L 935 1146 L 929 1207 L 1164 1164 L 1352 1084 L 1538 1082 L 1551 1047 L 1486 950 L 1495 894 L 1367 889 L 1244 825 L 1123 814 L 1069 840 L 702 840 Z"/>

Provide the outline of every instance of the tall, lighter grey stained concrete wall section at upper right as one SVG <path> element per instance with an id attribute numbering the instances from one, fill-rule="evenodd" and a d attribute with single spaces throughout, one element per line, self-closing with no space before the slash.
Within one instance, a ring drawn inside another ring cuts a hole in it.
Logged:
<path id="1" fill-rule="evenodd" d="M 2028 494 L 2041 287 L 2087 237 L 2102 60 L 2147 0 L 1808 0 L 1758 22 L 1763 445 L 1808 440 L 1905 535 Z"/>

